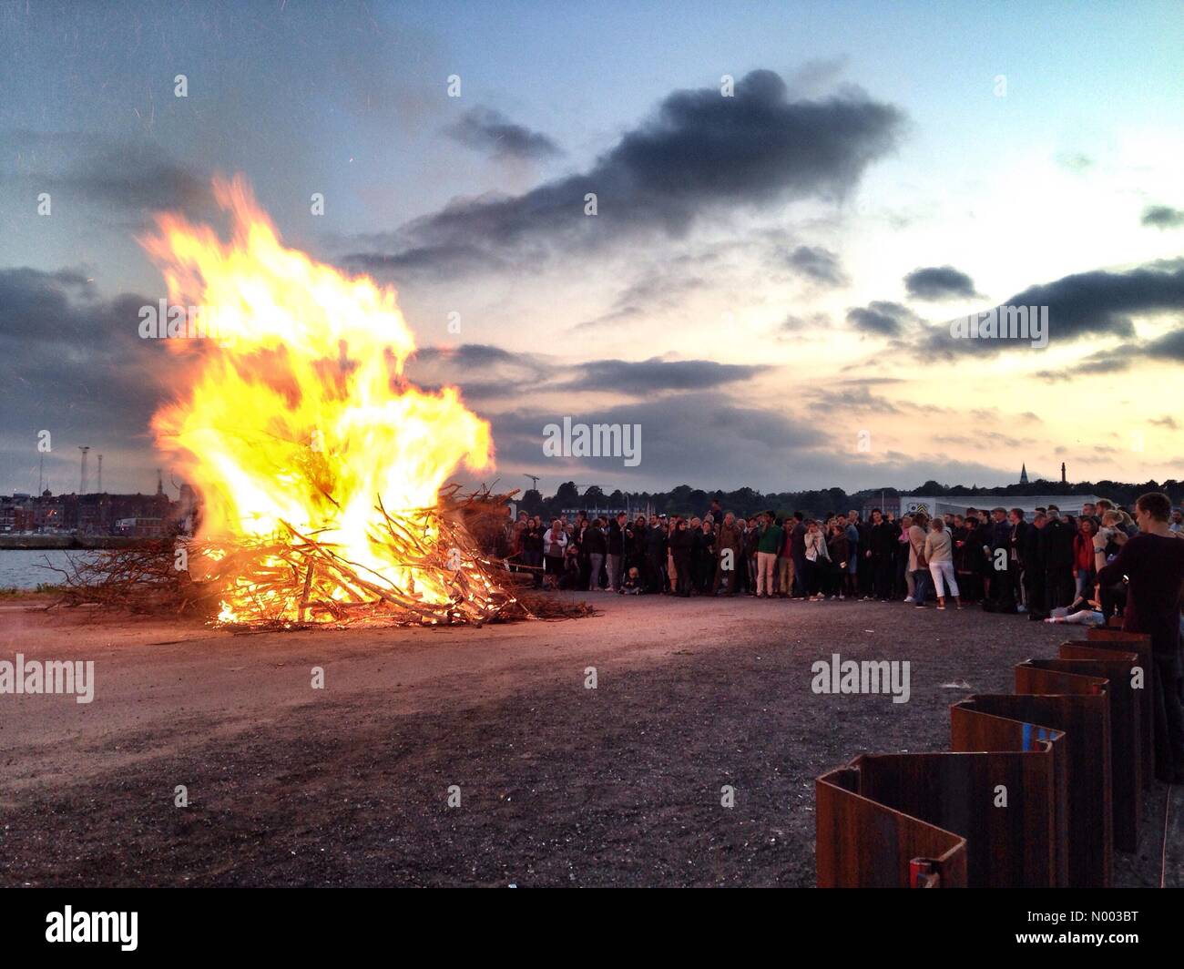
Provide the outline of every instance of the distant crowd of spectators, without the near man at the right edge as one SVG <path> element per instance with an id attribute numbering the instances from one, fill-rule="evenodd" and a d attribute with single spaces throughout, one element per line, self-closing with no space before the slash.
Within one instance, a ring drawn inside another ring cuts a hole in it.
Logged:
<path id="1" fill-rule="evenodd" d="M 1180 511 L 1169 527 L 1184 537 Z M 702 515 L 612 519 L 579 512 L 543 521 L 519 514 L 510 561 L 536 572 L 547 589 L 671 596 L 935 601 L 982 604 L 1032 620 L 1098 603 L 1103 620 L 1121 614 L 1121 582 L 1098 573 L 1139 528 L 1102 500 L 1080 515 L 1051 505 L 1029 521 L 1019 508 L 967 508 L 965 514 L 899 516 L 880 508 L 807 518 L 762 512 L 748 519 L 718 501 Z"/>

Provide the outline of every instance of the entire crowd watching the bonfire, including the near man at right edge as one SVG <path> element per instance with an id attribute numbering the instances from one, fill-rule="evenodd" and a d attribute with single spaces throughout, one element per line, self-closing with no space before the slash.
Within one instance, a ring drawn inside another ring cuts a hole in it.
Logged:
<path id="1" fill-rule="evenodd" d="M 525 512 L 506 535 L 511 567 L 547 589 L 620 595 L 738 596 L 810 602 L 901 601 L 938 609 L 979 604 L 1045 622 L 1108 623 L 1152 637 L 1156 774 L 1184 782 L 1180 657 L 1184 514 L 1145 494 L 1133 513 L 1101 500 L 1077 515 L 1055 505 L 899 516 L 822 518 L 772 511 L 611 520 L 585 512 L 549 524 Z"/>

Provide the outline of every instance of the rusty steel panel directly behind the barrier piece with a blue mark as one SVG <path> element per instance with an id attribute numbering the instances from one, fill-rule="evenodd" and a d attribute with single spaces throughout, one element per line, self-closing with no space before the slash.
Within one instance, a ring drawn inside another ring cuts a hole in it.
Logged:
<path id="1" fill-rule="evenodd" d="M 1063 807 L 1069 832 L 1069 885 L 1108 887 L 1114 841 L 1111 784 L 1098 762 L 1098 751 L 1109 746 L 1105 694 L 980 693 L 973 701 L 983 713 L 1038 724 L 1066 734 L 1068 796 Z"/>

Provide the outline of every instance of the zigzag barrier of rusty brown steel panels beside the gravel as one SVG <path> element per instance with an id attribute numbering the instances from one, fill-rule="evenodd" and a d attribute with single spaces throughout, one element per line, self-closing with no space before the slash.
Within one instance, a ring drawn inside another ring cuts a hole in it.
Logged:
<path id="1" fill-rule="evenodd" d="M 1113 849 L 1138 847 L 1153 667 L 1147 636 L 1088 635 L 1019 663 L 1015 694 L 952 705 L 948 753 L 819 777 L 818 886 L 1109 886 Z"/>

